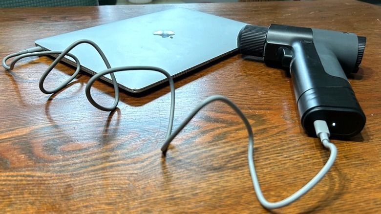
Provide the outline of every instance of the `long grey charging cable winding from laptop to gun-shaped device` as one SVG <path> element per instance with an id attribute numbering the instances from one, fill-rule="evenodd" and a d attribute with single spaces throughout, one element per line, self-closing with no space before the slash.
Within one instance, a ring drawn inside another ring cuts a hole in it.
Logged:
<path id="1" fill-rule="evenodd" d="M 327 123 L 325 121 L 323 121 L 323 120 L 317 120 L 317 121 L 314 122 L 314 127 L 315 127 L 315 130 L 316 130 L 316 134 L 317 134 L 318 138 L 320 138 L 320 141 L 323 144 L 323 146 L 325 148 L 330 150 L 330 156 L 328 158 L 327 163 L 323 166 L 323 168 L 306 185 L 304 185 L 302 188 L 300 188 L 298 191 L 296 191 L 296 193 L 292 194 L 291 196 L 289 196 L 286 199 L 283 199 L 281 201 L 278 201 L 278 202 L 269 202 L 263 196 L 263 193 L 262 193 L 262 191 L 260 189 L 260 186 L 259 186 L 259 181 L 258 181 L 256 172 L 255 172 L 254 159 L 253 159 L 253 155 L 254 155 L 254 140 L 253 140 L 252 127 L 251 127 L 248 119 L 246 118 L 246 116 L 239 109 L 239 107 L 237 107 L 228 98 L 226 98 L 226 97 L 224 97 L 222 95 L 212 95 L 212 96 L 208 97 L 202 103 L 197 105 L 191 111 L 191 113 L 186 117 L 186 119 L 181 123 L 181 125 L 172 133 L 173 117 L 174 117 L 174 105 L 175 105 L 175 87 L 174 87 L 173 79 L 170 76 L 170 74 L 167 71 L 165 71 L 165 70 L 163 70 L 161 68 L 152 67 L 152 66 L 122 66 L 122 67 L 111 68 L 111 66 L 110 66 L 110 64 L 109 64 L 105 54 L 101 50 L 101 48 L 96 43 L 94 43 L 94 42 L 92 42 L 90 40 L 79 40 L 79 41 L 77 41 L 75 43 L 72 43 L 70 46 L 68 46 L 63 51 L 44 51 L 41 47 L 28 48 L 28 49 L 25 49 L 23 51 L 20 51 L 20 52 L 17 52 L 17 53 L 13 53 L 13 54 L 10 54 L 10 55 L 6 56 L 2 60 L 2 66 L 5 69 L 7 69 L 8 71 L 10 71 L 10 70 L 12 70 L 14 68 L 14 65 L 19 60 L 21 60 L 22 58 L 31 57 L 31 56 L 58 55 L 58 57 L 53 61 L 53 63 L 51 65 L 49 65 L 48 68 L 43 72 L 42 77 L 41 77 L 40 82 L 39 82 L 40 90 L 43 93 L 47 93 L 47 94 L 56 93 L 59 90 L 63 89 L 67 84 L 69 84 L 78 75 L 78 73 L 80 72 L 81 64 L 80 64 L 78 58 L 75 57 L 73 54 L 69 53 L 69 51 L 72 50 L 75 46 L 77 46 L 79 44 L 82 44 L 82 43 L 87 43 L 87 44 L 90 44 L 91 46 L 93 46 L 98 51 L 98 53 L 102 57 L 102 60 L 104 61 L 104 63 L 106 64 L 106 67 L 107 67 L 106 70 L 101 71 L 101 72 L 95 74 L 94 76 L 92 76 L 90 78 L 90 80 L 88 81 L 88 83 L 86 84 L 86 87 L 85 87 L 85 93 L 86 93 L 86 97 L 87 97 L 88 101 L 94 107 L 97 107 L 97 108 L 99 108 L 101 110 L 112 111 L 118 105 L 118 102 L 119 102 L 119 88 L 118 88 L 118 83 L 116 82 L 116 78 L 114 76 L 114 72 L 119 72 L 119 71 L 128 72 L 130 70 L 152 70 L 152 71 L 160 72 L 160 73 L 164 74 L 167 77 L 167 79 L 169 81 L 169 86 L 170 86 L 171 101 L 170 101 L 170 112 L 169 112 L 169 125 L 168 125 L 168 129 L 167 129 L 167 134 L 166 134 L 165 142 L 164 142 L 164 144 L 163 144 L 163 146 L 161 148 L 163 154 L 166 154 L 166 152 L 168 150 L 168 147 L 169 147 L 169 144 L 174 139 L 174 137 L 191 121 L 191 119 L 203 107 L 205 107 L 206 105 L 208 105 L 208 104 L 210 104 L 210 103 L 212 103 L 214 101 L 222 101 L 222 102 L 226 103 L 228 106 L 230 106 L 237 113 L 237 115 L 242 119 L 242 121 L 245 124 L 245 127 L 246 127 L 246 129 L 248 131 L 248 138 L 249 138 L 249 146 L 248 146 L 249 170 L 250 170 L 250 174 L 251 174 L 251 177 L 252 177 L 254 191 L 255 191 L 255 194 L 256 194 L 256 196 L 258 198 L 258 201 L 266 209 L 281 208 L 281 207 L 287 206 L 290 203 L 296 201 L 303 194 L 305 194 L 309 190 L 311 190 L 321 180 L 321 178 L 330 170 L 330 168 L 332 167 L 332 165 L 335 162 L 335 159 L 336 159 L 336 156 L 337 156 L 337 149 L 336 149 L 335 145 L 329 141 L 330 132 L 329 132 Z M 50 73 L 50 71 L 58 64 L 58 62 L 60 62 L 63 59 L 64 56 L 69 56 L 69 57 L 71 57 L 76 62 L 76 70 L 75 70 L 74 74 L 71 75 L 68 79 L 66 79 L 57 88 L 52 89 L 52 90 L 45 89 L 43 87 L 43 83 L 45 81 L 45 78 Z M 10 59 L 10 58 L 14 58 L 14 59 L 10 62 L 9 65 L 7 65 L 6 61 L 8 59 Z M 112 80 L 112 83 L 113 83 L 113 86 L 114 86 L 114 90 L 115 90 L 115 100 L 114 100 L 114 103 L 110 107 L 104 107 L 104 106 L 99 105 L 92 98 L 91 93 L 90 93 L 90 89 L 91 89 L 91 86 L 93 85 L 93 83 L 96 80 L 98 80 L 100 77 L 102 77 L 102 76 L 104 76 L 106 74 L 110 74 L 111 80 Z"/>

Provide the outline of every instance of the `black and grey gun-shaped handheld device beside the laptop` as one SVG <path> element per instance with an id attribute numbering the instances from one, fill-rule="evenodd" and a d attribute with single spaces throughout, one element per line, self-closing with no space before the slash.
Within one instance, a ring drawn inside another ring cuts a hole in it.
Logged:
<path id="1" fill-rule="evenodd" d="M 354 33 L 280 24 L 249 24 L 237 38 L 242 54 L 290 70 L 302 127 L 316 136 L 313 123 L 324 120 L 333 138 L 354 136 L 365 126 L 346 76 L 359 70 L 365 42 Z"/>

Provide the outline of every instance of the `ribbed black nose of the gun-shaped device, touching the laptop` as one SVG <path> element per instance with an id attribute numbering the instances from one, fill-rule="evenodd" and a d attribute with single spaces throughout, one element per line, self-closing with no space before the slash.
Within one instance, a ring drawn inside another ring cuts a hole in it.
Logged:
<path id="1" fill-rule="evenodd" d="M 238 34 L 237 46 L 244 55 L 263 58 L 268 27 L 246 25 Z"/>

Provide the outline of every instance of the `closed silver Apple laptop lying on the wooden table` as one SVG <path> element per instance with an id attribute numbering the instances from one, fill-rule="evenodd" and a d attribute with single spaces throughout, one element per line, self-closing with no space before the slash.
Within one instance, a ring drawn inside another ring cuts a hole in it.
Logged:
<path id="1" fill-rule="evenodd" d="M 237 35 L 246 23 L 185 8 L 175 8 L 98 25 L 37 40 L 44 50 L 64 50 L 80 39 L 97 43 L 111 67 L 156 66 L 175 78 L 237 50 Z M 89 44 L 70 51 L 91 75 L 106 69 L 98 52 Z M 53 56 L 57 57 L 57 56 Z M 64 62 L 75 65 L 70 57 Z M 155 71 L 114 73 L 119 87 L 139 93 L 167 81 Z M 111 77 L 102 77 L 112 83 Z"/>

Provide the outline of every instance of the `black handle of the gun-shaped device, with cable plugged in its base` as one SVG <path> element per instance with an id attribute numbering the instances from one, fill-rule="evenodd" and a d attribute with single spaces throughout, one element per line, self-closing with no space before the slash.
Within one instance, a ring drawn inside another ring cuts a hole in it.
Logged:
<path id="1" fill-rule="evenodd" d="M 292 49 L 290 73 L 305 131 L 315 135 L 314 121 L 324 120 L 332 137 L 358 134 L 365 125 L 365 115 L 338 59 L 333 55 L 330 66 L 323 66 L 314 43 L 310 41 L 293 43 Z M 326 71 L 325 67 L 331 70 Z"/>

